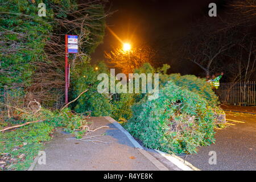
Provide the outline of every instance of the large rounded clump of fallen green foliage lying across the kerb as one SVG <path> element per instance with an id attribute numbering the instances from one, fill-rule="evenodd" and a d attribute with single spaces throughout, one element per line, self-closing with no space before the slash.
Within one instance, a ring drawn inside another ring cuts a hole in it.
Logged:
<path id="1" fill-rule="evenodd" d="M 159 98 L 144 97 L 133 106 L 125 127 L 144 146 L 169 153 L 191 154 L 214 142 L 214 111 L 198 94 L 169 81 Z"/>

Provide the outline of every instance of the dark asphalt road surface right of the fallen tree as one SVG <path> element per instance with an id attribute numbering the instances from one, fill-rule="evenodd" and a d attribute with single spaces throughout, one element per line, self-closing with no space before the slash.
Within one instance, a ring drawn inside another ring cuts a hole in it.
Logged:
<path id="1" fill-rule="evenodd" d="M 197 154 L 181 158 L 207 171 L 256 170 L 256 115 L 226 112 L 226 118 L 233 121 L 216 130 L 215 144 L 200 147 Z M 209 164 L 210 151 L 216 151 L 216 164 Z"/>

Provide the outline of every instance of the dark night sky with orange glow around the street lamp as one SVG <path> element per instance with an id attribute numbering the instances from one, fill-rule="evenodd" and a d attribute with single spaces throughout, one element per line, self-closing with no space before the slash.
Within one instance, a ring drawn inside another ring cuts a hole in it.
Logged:
<path id="1" fill-rule="evenodd" d="M 168 45 L 174 41 L 179 42 L 193 21 L 208 16 L 208 5 L 211 2 L 217 4 L 217 15 L 224 16 L 227 9 L 226 3 L 230 1 L 110 0 L 106 10 L 116 12 L 108 16 L 107 25 L 124 42 L 130 42 L 132 45 L 155 46 L 168 55 L 171 52 Z M 121 43 L 106 30 L 104 43 L 98 46 L 93 53 L 92 62 L 104 60 L 104 51 L 121 46 Z M 171 65 L 172 73 L 195 74 L 198 71 L 196 65 L 189 61 L 174 62 L 171 54 L 168 58 L 163 59 L 163 62 Z M 184 69 L 184 64 L 191 65 L 190 69 Z"/>

